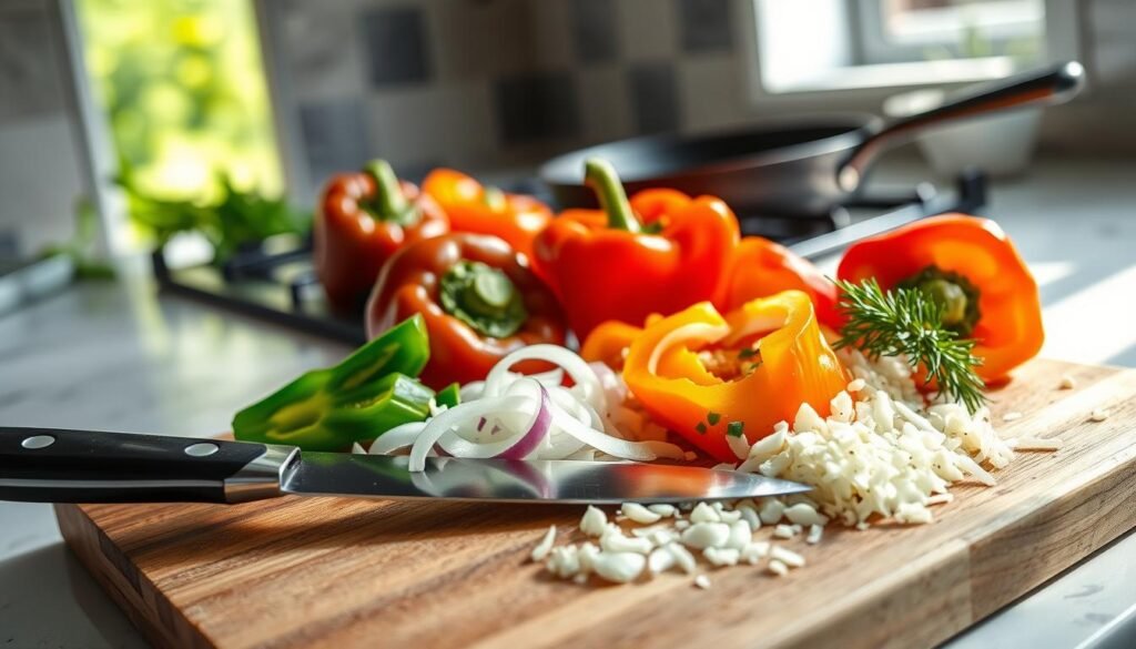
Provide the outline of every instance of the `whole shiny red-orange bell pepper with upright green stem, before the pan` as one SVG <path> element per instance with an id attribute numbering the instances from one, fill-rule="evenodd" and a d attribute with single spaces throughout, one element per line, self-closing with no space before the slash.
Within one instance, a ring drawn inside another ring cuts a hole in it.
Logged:
<path id="1" fill-rule="evenodd" d="M 726 203 L 674 190 L 627 200 L 611 165 L 588 160 L 600 210 L 569 209 L 536 238 L 534 267 L 580 340 L 607 321 L 638 325 L 717 294 L 738 226 Z"/>

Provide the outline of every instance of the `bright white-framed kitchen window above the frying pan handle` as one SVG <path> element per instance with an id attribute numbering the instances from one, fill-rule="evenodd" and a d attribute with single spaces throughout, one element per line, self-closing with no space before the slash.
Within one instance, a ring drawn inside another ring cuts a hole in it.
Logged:
<path id="1" fill-rule="evenodd" d="M 857 91 L 1009 76 L 1076 58 L 1059 0 L 754 0 L 754 94 Z"/>

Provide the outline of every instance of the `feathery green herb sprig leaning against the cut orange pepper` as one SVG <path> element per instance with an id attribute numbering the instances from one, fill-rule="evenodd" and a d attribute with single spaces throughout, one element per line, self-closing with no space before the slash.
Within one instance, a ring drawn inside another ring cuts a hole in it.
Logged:
<path id="1" fill-rule="evenodd" d="M 929 296 L 918 289 L 884 291 L 874 278 L 859 284 L 837 280 L 836 285 L 847 318 L 837 349 L 853 347 L 872 359 L 903 355 L 971 413 L 986 402 L 985 384 L 974 369 L 982 364 L 972 353 L 975 340 L 944 326 L 943 307 Z"/>

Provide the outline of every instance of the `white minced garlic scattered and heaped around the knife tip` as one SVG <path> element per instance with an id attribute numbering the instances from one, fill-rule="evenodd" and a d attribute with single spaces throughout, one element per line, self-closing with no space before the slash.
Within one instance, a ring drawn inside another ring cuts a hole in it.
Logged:
<path id="1" fill-rule="evenodd" d="M 987 468 L 1005 467 L 1014 449 L 1052 450 L 1059 440 L 1002 440 L 989 410 L 971 415 L 958 403 L 927 403 L 901 358 L 870 361 L 855 350 L 841 359 L 854 378 L 830 403 L 828 417 L 802 405 L 752 447 L 732 438 L 740 464 L 720 465 L 802 482 L 808 494 L 699 502 L 680 507 L 625 504 L 615 523 L 588 507 L 583 543 L 554 547 L 556 527 L 533 549 L 534 561 L 577 583 L 588 575 L 626 583 L 677 571 L 710 588 L 700 565 L 763 564 L 784 575 L 804 565 L 785 542 L 818 543 L 829 522 L 867 529 L 869 521 L 930 523 L 932 506 L 950 502 L 950 485 L 967 479 L 994 484 Z M 625 534 L 619 523 L 640 526 Z"/>

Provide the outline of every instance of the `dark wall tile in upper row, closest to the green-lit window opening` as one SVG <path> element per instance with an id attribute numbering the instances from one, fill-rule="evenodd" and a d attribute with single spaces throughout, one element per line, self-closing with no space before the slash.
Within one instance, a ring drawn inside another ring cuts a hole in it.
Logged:
<path id="1" fill-rule="evenodd" d="M 366 11 L 362 41 L 368 76 L 375 88 L 429 81 L 429 44 L 420 8 Z"/>

